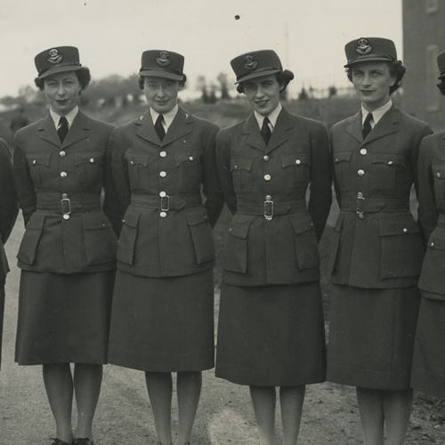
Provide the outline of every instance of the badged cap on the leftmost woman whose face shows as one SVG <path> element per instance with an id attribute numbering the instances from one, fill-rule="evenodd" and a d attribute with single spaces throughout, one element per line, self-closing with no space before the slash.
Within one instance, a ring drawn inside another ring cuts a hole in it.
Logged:
<path id="1" fill-rule="evenodd" d="M 34 62 L 40 78 L 82 68 L 79 51 L 75 46 L 54 46 L 38 53 Z"/>

